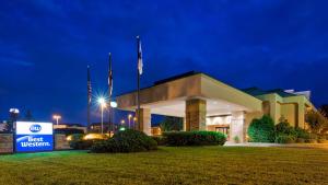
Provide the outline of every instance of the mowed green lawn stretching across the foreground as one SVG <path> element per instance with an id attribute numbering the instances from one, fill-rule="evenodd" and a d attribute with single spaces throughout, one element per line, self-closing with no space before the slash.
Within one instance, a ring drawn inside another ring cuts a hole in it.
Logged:
<path id="1" fill-rule="evenodd" d="M 0 185 L 10 184 L 328 184 L 328 150 L 163 147 L 0 155 Z"/>

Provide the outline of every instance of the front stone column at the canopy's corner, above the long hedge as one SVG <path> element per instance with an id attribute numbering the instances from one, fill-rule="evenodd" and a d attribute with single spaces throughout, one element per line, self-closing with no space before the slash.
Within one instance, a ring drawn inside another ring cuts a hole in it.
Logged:
<path id="1" fill-rule="evenodd" d="M 200 99 L 186 101 L 186 131 L 206 130 L 207 102 Z"/>

